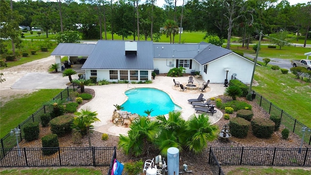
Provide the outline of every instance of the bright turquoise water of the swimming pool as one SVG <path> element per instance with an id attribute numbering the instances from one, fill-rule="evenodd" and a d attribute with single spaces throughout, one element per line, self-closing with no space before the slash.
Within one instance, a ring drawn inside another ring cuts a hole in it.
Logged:
<path id="1" fill-rule="evenodd" d="M 124 111 L 137 113 L 140 116 L 147 116 L 145 110 L 151 112 L 151 116 L 168 114 L 173 110 L 181 110 L 181 107 L 175 105 L 170 96 L 155 88 L 133 88 L 127 90 L 125 95 L 128 96 L 127 101 L 121 105 Z"/>

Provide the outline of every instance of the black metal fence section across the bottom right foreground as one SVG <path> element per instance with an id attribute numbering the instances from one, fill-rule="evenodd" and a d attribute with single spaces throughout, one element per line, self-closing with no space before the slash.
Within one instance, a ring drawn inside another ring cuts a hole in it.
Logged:
<path id="1" fill-rule="evenodd" d="M 309 148 L 213 147 L 211 153 L 221 165 L 311 166 Z"/>

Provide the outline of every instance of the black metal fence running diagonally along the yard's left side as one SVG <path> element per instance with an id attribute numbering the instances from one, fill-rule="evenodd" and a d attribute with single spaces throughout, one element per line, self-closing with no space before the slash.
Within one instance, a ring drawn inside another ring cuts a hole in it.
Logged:
<path id="1" fill-rule="evenodd" d="M 62 100 L 69 100 L 69 92 L 75 91 L 76 89 L 77 88 L 74 86 L 74 84 L 71 84 L 70 86 L 68 86 L 67 88 L 62 90 L 59 94 L 57 94 L 53 98 L 53 100 L 58 99 L 58 98 L 60 98 Z M 42 114 L 45 114 L 45 113 L 50 113 L 51 110 L 52 109 L 50 107 L 43 105 L 34 114 L 29 116 L 24 122 L 18 124 L 16 128 L 19 128 L 21 131 L 19 136 L 17 137 L 18 141 L 21 141 L 24 139 L 23 128 L 24 128 L 25 124 L 33 123 L 33 122 L 41 122 L 40 116 Z M 9 148 L 9 149 L 1 149 L 0 159 L 5 157 L 5 155 L 11 151 L 11 148 L 15 147 L 16 145 L 17 145 L 17 141 L 16 141 L 15 134 L 11 135 L 10 133 L 8 133 L 6 136 L 4 136 L 2 139 L 0 139 L 0 148 Z"/>

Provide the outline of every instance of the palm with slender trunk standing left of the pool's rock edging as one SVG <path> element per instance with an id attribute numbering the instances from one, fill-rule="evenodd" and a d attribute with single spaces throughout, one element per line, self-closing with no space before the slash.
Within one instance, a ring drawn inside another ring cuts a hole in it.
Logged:
<path id="1" fill-rule="evenodd" d="M 100 122 L 96 117 L 97 112 L 91 111 L 90 106 L 86 106 L 86 109 L 81 109 L 81 112 L 74 113 L 77 117 L 74 118 L 71 128 L 76 132 L 79 132 L 82 136 L 87 135 L 88 145 L 91 147 L 90 133 L 93 133 L 94 126 L 92 123 Z"/>

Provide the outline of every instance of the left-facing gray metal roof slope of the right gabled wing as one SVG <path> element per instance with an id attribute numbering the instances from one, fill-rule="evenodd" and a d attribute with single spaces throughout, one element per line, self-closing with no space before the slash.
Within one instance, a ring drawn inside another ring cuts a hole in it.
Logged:
<path id="1" fill-rule="evenodd" d="M 207 47 L 202 52 L 198 53 L 195 57 L 193 57 L 193 59 L 195 59 L 201 65 L 204 65 L 232 52 L 233 51 L 230 51 L 228 49 L 215 46 L 213 44 L 208 44 Z"/>

